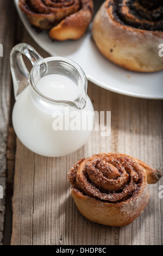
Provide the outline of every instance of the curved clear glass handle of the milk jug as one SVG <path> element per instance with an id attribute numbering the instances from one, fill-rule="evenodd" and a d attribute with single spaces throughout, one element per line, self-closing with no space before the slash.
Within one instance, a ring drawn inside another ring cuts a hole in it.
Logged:
<path id="1" fill-rule="evenodd" d="M 10 53 L 10 68 L 14 86 L 15 100 L 24 88 L 29 85 L 29 71 L 24 64 L 22 54 L 27 56 L 34 66 L 40 59 L 43 59 L 35 49 L 28 44 L 18 44 L 12 48 Z"/>

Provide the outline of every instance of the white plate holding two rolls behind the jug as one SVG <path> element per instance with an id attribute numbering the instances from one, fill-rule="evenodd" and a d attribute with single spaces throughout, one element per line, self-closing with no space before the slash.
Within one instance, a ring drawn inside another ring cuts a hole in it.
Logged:
<path id="1" fill-rule="evenodd" d="M 91 25 L 85 35 L 77 41 L 53 42 L 47 32 L 40 34 L 35 32 L 27 17 L 18 8 L 18 0 L 14 1 L 28 33 L 51 56 L 62 56 L 74 60 L 83 68 L 88 80 L 112 92 L 145 99 L 163 99 L 163 71 L 142 74 L 125 70 L 109 62 L 98 51 L 92 40 Z M 94 2 L 98 2 L 95 4 L 96 13 L 103 1 Z"/>

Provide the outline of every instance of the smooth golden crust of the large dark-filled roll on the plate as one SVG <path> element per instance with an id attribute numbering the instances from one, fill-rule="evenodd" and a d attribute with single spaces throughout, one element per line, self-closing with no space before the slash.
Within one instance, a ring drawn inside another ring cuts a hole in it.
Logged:
<path id="1" fill-rule="evenodd" d="M 128 70 L 139 72 L 162 70 L 163 58 L 159 57 L 158 52 L 159 44 L 163 40 L 163 32 L 152 30 L 159 25 L 156 21 L 151 23 L 148 21 L 144 25 L 148 30 L 140 29 L 142 25 L 139 22 L 145 20 L 133 17 L 125 6 L 125 0 L 122 5 L 124 20 L 121 21 L 114 13 L 114 2 L 114 0 L 105 1 L 93 20 L 92 35 L 99 51 L 111 62 Z M 138 27 L 134 24 L 138 24 Z"/>

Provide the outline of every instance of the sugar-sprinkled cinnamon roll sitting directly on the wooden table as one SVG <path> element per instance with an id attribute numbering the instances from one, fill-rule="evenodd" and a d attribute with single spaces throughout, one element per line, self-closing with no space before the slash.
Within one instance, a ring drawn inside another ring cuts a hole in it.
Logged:
<path id="1" fill-rule="evenodd" d="M 92 222 L 121 227 L 149 202 L 148 185 L 162 174 L 134 157 L 103 153 L 80 159 L 68 172 L 78 210 Z"/>

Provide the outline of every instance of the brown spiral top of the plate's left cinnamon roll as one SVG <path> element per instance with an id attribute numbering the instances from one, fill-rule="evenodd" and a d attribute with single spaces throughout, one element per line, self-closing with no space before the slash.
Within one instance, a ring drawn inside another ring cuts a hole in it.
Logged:
<path id="1" fill-rule="evenodd" d="M 92 0 L 20 0 L 19 6 L 29 22 L 41 29 L 50 29 L 80 10 L 93 13 Z"/>

